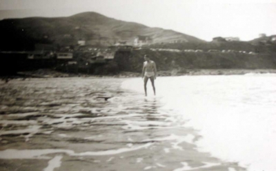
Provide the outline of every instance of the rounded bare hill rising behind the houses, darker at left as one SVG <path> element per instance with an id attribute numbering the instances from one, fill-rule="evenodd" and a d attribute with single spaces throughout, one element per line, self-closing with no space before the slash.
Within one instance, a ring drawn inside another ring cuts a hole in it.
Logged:
<path id="1" fill-rule="evenodd" d="M 175 40 L 204 42 L 173 30 L 120 21 L 96 12 L 83 12 L 71 17 L 3 19 L 0 21 L 0 35 L 1 50 L 32 50 L 35 43 L 72 46 L 80 39 L 98 46 L 110 46 L 117 41 L 131 44 L 137 35 L 149 36 L 154 43 Z"/>

